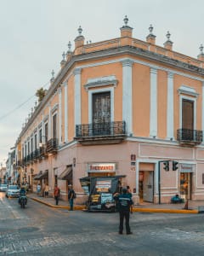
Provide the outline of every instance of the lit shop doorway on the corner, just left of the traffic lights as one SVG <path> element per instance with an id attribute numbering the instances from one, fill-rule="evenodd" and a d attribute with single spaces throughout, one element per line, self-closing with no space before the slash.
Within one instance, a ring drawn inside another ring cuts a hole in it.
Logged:
<path id="1" fill-rule="evenodd" d="M 143 201 L 154 202 L 154 172 L 144 171 Z"/>

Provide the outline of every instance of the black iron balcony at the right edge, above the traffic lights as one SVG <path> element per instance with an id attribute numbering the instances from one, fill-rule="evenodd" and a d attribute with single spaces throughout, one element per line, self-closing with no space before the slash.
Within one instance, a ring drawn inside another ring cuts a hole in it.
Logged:
<path id="1" fill-rule="evenodd" d="M 183 146 L 194 147 L 202 143 L 202 131 L 190 129 L 178 129 L 177 140 Z"/>

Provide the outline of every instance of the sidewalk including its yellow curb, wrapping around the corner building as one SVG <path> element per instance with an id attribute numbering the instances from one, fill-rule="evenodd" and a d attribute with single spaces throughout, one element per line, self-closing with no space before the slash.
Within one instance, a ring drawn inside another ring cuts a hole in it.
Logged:
<path id="1" fill-rule="evenodd" d="M 55 205 L 53 197 L 42 197 L 36 193 L 29 193 L 27 195 L 31 200 L 38 201 L 48 207 L 70 209 L 68 201 L 59 200 L 59 205 Z M 181 204 L 151 204 L 144 202 L 138 206 L 133 207 L 133 212 L 163 212 L 163 213 L 204 213 L 204 201 L 189 201 L 188 210 L 184 210 L 185 203 Z M 75 205 L 74 210 L 84 210 L 84 205 Z"/>

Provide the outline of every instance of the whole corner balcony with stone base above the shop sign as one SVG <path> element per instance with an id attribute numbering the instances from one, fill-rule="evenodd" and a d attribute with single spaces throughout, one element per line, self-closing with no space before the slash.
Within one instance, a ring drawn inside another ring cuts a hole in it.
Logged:
<path id="1" fill-rule="evenodd" d="M 125 138 L 125 121 L 76 125 L 75 140 L 85 145 L 122 143 Z"/>

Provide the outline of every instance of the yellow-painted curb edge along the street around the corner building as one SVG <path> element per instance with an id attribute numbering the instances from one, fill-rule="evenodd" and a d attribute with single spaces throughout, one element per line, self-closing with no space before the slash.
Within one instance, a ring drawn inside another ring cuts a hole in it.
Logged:
<path id="1" fill-rule="evenodd" d="M 43 205 L 46 205 L 48 207 L 56 208 L 56 209 L 66 209 L 70 210 L 69 206 L 55 206 L 53 204 L 50 204 L 48 202 L 42 201 L 38 198 L 29 197 L 33 201 L 37 201 L 39 203 L 42 203 Z M 85 206 L 74 206 L 74 210 L 82 211 L 84 210 Z M 161 212 L 161 213 L 189 213 L 189 214 L 198 214 L 198 213 L 204 213 L 203 211 L 198 210 L 184 210 L 184 209 L 159 209 L 159 208 L 133 208 L 133 212 Z"/>

